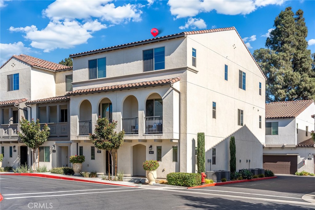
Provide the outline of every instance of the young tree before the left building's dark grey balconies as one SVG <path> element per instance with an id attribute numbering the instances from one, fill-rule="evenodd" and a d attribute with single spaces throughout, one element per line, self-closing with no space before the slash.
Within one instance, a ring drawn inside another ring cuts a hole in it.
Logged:
<path id="1" fill-rule="evenodd" d="M 20 131 L 18 135 L 21 141 L 29 148 L 33 150 L 33 160 L 34 160 L 34 171 L 36 167 L 36 159 L 35 153 L 38 149 L 38 156 L 39 156 L 39 147 L 43 145 L 48 137 L 49 137 L 49 127 L 47 123 L 44 125 L 43 129 L 40 128 L 39 119 L 34 121 L 31 119 L 31 122 L 26 120 L 23 116 L 20 119 Z M 39 157 L 38 157 L 38 164 L 39 164 Z"/>

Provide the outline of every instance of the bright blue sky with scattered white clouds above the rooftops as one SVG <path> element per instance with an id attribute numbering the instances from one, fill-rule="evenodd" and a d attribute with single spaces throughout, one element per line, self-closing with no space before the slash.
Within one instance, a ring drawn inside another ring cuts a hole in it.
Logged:
<path id="1" fill-rule="evenodd" d="M 315 52 L 315 1 L 7 1 L 0 0 L 0 62 L 28 54 L 59 62 L 85 52 L 182 31 L 235 26 L 251 53 L 263 48 L 286 7 L 304 11 Z"/>

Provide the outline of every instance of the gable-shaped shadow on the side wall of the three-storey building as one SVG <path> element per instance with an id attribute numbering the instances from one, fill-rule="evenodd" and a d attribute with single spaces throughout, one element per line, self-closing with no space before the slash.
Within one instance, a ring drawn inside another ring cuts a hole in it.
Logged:
<path id="1" fill-rule="evenodd" d="M 206 171 L 230 170 L 231 136 L 235 137 L 236 169 L 262 168 L 262 143 L 257 139 L 254 133 L 244 125 L 206 151 Z M 210 141 L 211 138 L 212 137 L 210 137 Z M 209 142 L 206 141 L 206 145 L 207 144 L 209 145 Z M 213 148 L 215 148 L 215 165 L 213 164 Z M 211 160 L 211 162 L 208 162 L 209 160 Z"/>

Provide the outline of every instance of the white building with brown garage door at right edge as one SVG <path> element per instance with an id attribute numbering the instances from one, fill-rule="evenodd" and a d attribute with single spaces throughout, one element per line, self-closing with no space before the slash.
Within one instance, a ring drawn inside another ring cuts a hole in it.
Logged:
<path id="1" fill-rule="evenodd" d="M 313 100 L 266 104 L 264 169 L 280 174 L 314 173 L 315 148 L 310 135 L 314 112 Z"/>

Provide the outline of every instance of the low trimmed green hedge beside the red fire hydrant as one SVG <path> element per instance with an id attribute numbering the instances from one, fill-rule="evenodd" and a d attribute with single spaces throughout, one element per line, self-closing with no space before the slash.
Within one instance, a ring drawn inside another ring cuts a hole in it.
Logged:
<path id="1" fill-rule="evenodd" d="M 175 186 L 194 187 L 201 185 L 200 173 L 173 172 L 166 175 L 167 183 Z"/>

